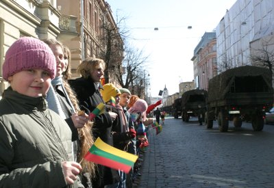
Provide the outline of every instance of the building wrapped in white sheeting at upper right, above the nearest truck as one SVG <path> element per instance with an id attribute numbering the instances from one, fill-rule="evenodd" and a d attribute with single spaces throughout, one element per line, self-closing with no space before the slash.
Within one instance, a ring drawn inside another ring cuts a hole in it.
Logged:
<path id="1" fill-rule="evenodd" d="M 273 0 L 236 1 L 216 27 L 218 71 L 251 64 L 254 49 L 273 44 L 273 21 Z"/>

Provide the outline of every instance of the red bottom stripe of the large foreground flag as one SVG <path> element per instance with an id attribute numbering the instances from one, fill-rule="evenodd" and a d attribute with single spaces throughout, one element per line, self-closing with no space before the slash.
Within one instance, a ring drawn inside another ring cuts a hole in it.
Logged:
<path id="1" fill-rule="evenodd" d="M 128 173 L 129 170 L 132 169 L 132 166 L 125 165 L 123 163 L 119 163 L 117 161 L 113 161 L 111 159 L 101 157 L 101 156 L 98 156 L 98 155 L 93 155 L 90 152 L 88 152 L 86 154 L 85 159 L 87 159 L 88 161 L 93 161 L 94 163 L 98 163 L 100 165 L 105 165 L 105 166 L 108 166 L 108 167 L 112 167 L 116 170 L 123 170 L 123 172 L 126 172 L 126 173 Z"/>

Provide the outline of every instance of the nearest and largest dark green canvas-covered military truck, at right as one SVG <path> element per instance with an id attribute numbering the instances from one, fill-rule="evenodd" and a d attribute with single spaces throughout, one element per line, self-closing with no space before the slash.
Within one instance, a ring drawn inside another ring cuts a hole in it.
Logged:
<path id="1" fill-rule="evenodd" d="M 218 120 L 219 131 L 227 131 L 229 120 L 235 127 L 251 121 L 253 131 L 264 128 L 265 112 L 273 105 L 271 73 L 267 68 L 240 66 L 222 72 L 208 82 L 206 126 Z"/>

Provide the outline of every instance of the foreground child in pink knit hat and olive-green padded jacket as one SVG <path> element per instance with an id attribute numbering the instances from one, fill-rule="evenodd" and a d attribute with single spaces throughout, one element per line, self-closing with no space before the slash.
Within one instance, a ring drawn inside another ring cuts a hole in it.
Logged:
<path id="1" fill-rule="evenodd" d="M 5 54 L 3 78 L 10 87 L 0 100 L 1 187 L 84 187 L 71 130 L 47 107 L 55 71 L 51 49 L 36 38 L 16 40 Z"/>

